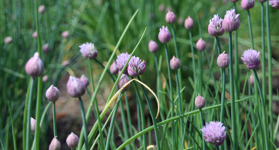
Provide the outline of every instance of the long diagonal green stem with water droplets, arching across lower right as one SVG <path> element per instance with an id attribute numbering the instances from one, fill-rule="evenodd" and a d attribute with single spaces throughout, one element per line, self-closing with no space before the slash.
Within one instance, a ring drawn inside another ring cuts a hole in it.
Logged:
<path id="1" fill-rule="evenodd" d="M 235 101 L 235 103 L 243 102 L 243 100 L 247 100 L 247 99 L 252 98 L 252 97 L 253 97 L 253 96 L 250 96 L 250 97 L 247 97 L 247 98 L 244 98 L 244 99 L 241 99 L 241 100 L 237 100 L 237 101 Z M 228 105 L 230 105 L 230 104 L 231 104 L 231 102 L 228 102 Z M 219 104 L 219 105 L 214 105 L 214 106 L 209 106 L 209 107 L 205 107 L 205 108 L 203 108 L 202 111 L 207 111 L 207 110 L 211 110 L 211 109 L 219 108 L 219 107 L 221 107 L 221 104 Z M 179 118 L 181 118 L 181 117 L 188 116 L 189 114 L 192 115 L 192 114 L 196 114 L 196 113 L 199 113 L 199 112 L 200 112 L 200 110 L 194 110 L 194 111 L 191 111 L 191 112 L 187 112 L 187 113 L 185 113 L 185 114 L 182 114 L 181 116 L 178 115 L 178 116 L 175 116 L 175 117 L 166 119 L 166 120 L 164 120 L 164 121 L 161 121 L 161 122 L 157 123 L 157 126 L 161 126 L 161 125 L 167 124 L 167 123 L 169 123 L 169 122 L 171 122 L 171 121 L 177 120 L 177 119 L 179 119 Z M 143 135 L 144 133 L 147 133 L 148 131 L 151 131 L 151 130 L 153 130 L 153 129 L 154 129 L 154 126 L 150 126 L 150 127 L 146 128 L 146 129 L 142 130 L 141 132 L 135 134 L 133 137 L 131 137 L 130 139 L 128 139 L 127 141 L 125 141 L 125 142 L 124 142 L 122 145 L 120 145 L 116 150 L 123 149 L 127 144 L 129 144 L 130 142 L 132 142 L 134 139 L 140 137 L 140 136 Z"/>

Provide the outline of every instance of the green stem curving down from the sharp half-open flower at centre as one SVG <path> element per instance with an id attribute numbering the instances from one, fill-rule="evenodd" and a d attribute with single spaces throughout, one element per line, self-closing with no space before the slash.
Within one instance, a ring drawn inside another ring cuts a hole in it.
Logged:
<path id="1" fill-rule="evenodd" d="M 142 80 L 140 79 L 140 76 L 137 76 L 137 79 L 139 79 L 139 81 L 142 82 Z M 171 80 L 171 79 L 169 79 Z M 154 125 L 154 132 L 155 132 L 155 138 L 156 138 L 156 145 L 157 145 L 157 150 L 160 150 L 160 137 L 159 137 L 159 133 L 158 133 L 158 128 L 157 128 L 157 122 L 156 122 L 156 117 L 154 115 L 154 111 L 153 111 L 153 108 L 152 108 L 152 104 L 149 100 L 149 97 L 148 97 L 148 94 L 145 90 L 145 87 L 144 85 L 140 84 L 141 87 L 142 87 L 142 91 L 144 93 L 144 96 L 146 98 L 146 101 L 147 101 L 147 104 L 148 104 L 148 107 L 149 107 L 149 110 L 150 110 L 150 114 L 151 114 L 151 118 L 152 118 L 152 122 L 153 122 L 153 125 Z"/>

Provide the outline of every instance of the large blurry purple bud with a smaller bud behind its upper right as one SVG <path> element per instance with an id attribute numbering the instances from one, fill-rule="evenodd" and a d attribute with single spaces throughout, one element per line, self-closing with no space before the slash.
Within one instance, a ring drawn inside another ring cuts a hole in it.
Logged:
<path id="1" fill-rule="evenodd" d="M 70 76 L 67 82 L 67 92 L 73 98 L 81 97 L 86 91 L 85 84 L 78 78 Z"/>

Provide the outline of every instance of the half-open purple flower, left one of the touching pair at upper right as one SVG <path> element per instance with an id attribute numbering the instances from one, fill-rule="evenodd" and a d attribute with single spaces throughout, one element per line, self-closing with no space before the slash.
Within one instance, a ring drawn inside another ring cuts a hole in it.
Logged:
<path id="1" fill-rule="evenodd" d="M 222 27 L 223 19 L 218 15 L 214 15 L 211 20 L 209 20 L 208 33 L 210 36 L 222 36 L 225 30 Z"/>

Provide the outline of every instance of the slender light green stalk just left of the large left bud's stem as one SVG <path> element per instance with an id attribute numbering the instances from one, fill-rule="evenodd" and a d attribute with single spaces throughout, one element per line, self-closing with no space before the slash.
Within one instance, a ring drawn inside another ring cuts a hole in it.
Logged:
<path id="1" fill-rule="evenodd" d="M 26 128 L 27 128 L 27 111 L 28 111 L 28 100 L 29 100 L 29 93 L 30 93 L 30 87 L 31 87 L 31 81 L 32 77 L 30 77 L 29 84 L 28 84 L 28 89 L 26 93 L 26 98 L 25 98 L 25 106 L 24 106 L 24 116 L 23 116 L 23 130 L 22 130 L 22 146 L 23 150 L 26 149 Z"/>

